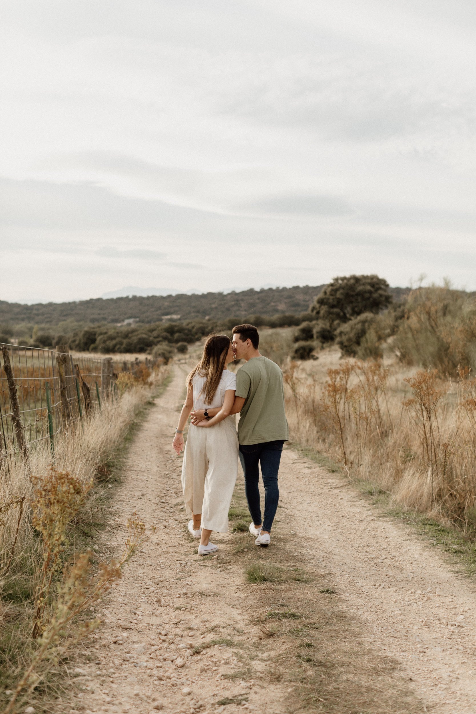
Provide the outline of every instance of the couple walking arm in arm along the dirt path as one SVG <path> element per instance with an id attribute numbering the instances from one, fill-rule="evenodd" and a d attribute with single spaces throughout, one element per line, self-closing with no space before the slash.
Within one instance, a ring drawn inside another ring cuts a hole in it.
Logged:
<path id="1" fill-rule="evenodd" d="M 173 448 L 183 449 L 183 429 L 191 426 L 183 456 L 183 498 L 191 521 L 188 530 L 200 538 L 199 555 L 218 550 L 210 542 L 212 531 L 228 531 L 228 510 L 238 474 L 238 456 L 245 475 L 245 494 L 253 522 L 250 533 L 256 545 L 270 544 L 270 531 L 278 508 L 278 469 L 283 443 L 288 441 L 284 411 L 283 373 L 260 355 L 260 337 L 253 325 L 233 328 L 226 335 L 206 338 L 201 361 L 187 377 Z M 226 366 L 234 359 L 245 364 L 236 375 Z M 236 417 L 240 413 L 238 433 Z M 261 519 L 259 468 L 265 488 Z"/>

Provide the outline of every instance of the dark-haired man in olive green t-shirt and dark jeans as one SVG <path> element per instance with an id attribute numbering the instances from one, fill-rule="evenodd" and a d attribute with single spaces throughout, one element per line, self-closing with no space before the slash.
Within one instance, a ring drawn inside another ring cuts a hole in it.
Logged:
<path id="1" fill-rule="evenodd" d="M 233 353 L 245 364 L 236 373 L 236 392 L 232 414 L 240 412 L 238 441 L 245 474 L 245 494 L 253 523 L 250 533 L 256 545 L 270 544 L 270 531 L 278 508 L 278 469 L 283 443 L 289 439 L 284 410 L 283 373 L 273 361 L 258 351 L 260 336 L 253 325 L 233 328 Z M 208 418 L 218 409 L 208 409 Z M 193 422 L 203 419 L 203 411 L 192 412 Z M 264 520 L 261 520 L 261 476 L 265 488 Z"/>

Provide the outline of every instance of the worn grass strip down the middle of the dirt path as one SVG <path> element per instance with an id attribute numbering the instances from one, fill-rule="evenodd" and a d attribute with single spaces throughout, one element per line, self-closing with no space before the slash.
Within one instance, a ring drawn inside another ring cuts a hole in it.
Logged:
<path id="1" fill-rule="evenodd" d="M 244 509 L 238 482 L 232 520 Z M 231 558 L 249 583 L 250 623 L 260 631 L 255 652 L 250 647 L 243 653 L 236 676 L 247 671 L 269 686 L 279 683 L 285 710 L 293 714 L 425 711 L 397 661 L 374 649 L 362 623 L 345 612 L 328 576 L 305 555 L 295 555 L 298 535 L 290 535 L 289 517 L 278 514 L 269 548 L 256 548 L 248 533 L 236 533 Z"/>

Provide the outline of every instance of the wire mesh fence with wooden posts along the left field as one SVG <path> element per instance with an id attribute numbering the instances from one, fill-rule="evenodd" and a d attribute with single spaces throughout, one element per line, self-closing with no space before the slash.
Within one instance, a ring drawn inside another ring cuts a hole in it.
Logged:
<path id="1" fill-rule="evenodd" d="M 140 376 L 153 361 L 116 361 L 57 350 L 0 343 L 0 463 L 28 458 L 48 441 L 51 451 L 71 422 L 101 408 L 117 392 L 118 373 Z"/>

